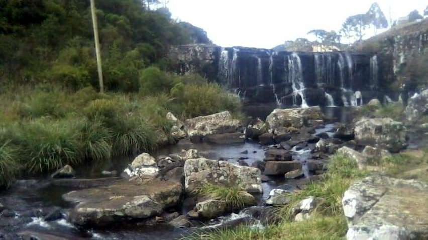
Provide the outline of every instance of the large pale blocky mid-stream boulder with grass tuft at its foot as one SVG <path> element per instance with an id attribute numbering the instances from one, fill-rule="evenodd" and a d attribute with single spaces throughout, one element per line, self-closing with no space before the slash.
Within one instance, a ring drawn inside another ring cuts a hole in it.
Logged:
<path id="1" fill-rule="evenodd" d="M 248 192 L 262 192 L 260 170 L 254 167 L 235 165 L 226 161 L 206 158 L 190 159 L 184 164 L 187 193 L 206 183 L 232 185 L 239 182 Z"/>

